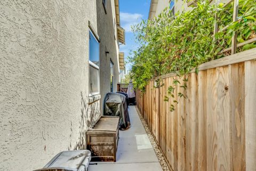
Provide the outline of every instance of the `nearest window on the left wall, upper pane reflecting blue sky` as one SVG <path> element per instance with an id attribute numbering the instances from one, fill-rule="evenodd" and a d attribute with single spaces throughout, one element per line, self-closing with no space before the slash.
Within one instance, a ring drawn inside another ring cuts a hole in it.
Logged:
<path id="1" fill-rule="evenodd" d="M 90 96 L 100 92 L 100 44 L 92 31 L 89 31 L 89 92 Z"/>

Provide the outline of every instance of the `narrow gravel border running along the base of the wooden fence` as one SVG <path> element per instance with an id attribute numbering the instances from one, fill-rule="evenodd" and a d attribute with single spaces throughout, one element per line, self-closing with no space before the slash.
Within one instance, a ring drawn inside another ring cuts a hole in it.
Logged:
<path id="1" fill-rule="evenodd" d="M 163 171 L 172 171 L 172 169 L 169 168 L 169 165 L 167 164 L 167 161 L 165 160 L 165 157 L 164 157 L 163 153 L 161 152 L 161 150 L 159 149 L 159 146 L 156 143 L 155 137 L 153 136 L 153 134 L 152 134 L 150 128 L 148 127 L 148 124 L 146 123 L 145 119 L 142 117 L 138 107 L 135 106 L 135 109 L 136 109 L 136 111 L 139 115 L 139 118 L 141 120 L 141 123 L 142 123 L 143 127 L 146 130 L 149 141 L 151 142 L 151 144 L 153 146 L 153 149 L 156 153 L 156 156 L 159 160 L 160 165 L 162 166 Z"/>

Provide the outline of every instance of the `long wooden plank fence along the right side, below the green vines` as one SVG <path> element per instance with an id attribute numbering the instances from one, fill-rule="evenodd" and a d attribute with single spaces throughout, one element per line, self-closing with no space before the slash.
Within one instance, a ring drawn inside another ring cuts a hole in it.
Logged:
<path id="1" fill-rule="evenodd" d="M 173 170 L 256 170 L 255 59 L 256 48 L 202 64 L 187 76 L 187 99 L 173 112 L 173 99 L 164 96 L 175 74 L 137 92 L 137 107 Z M 182 91 L 176 86 L 174 99 Z"/>

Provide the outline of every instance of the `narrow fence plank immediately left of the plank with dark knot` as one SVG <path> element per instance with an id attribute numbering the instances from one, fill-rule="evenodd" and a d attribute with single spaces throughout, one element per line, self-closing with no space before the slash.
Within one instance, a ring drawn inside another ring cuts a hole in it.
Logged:
<path id="1" fill-rule="evenodd" d="M 207 70 L 207 171 L 217 170 L 217 85 L 216 69 Z"/>

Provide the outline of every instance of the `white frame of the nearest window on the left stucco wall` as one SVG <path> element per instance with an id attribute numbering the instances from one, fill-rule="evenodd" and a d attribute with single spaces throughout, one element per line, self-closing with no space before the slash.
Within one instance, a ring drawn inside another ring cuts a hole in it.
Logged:
<path id="1" fill-rule="evenodd" d="M 97 66 L 97 64 L 93 63 L 92 61 L 90 61 L 90 33 L 93 36 L 93 38 L 99 43 L 99 66 Z M 90 92 L 90 67 L 93 67 L 95 69 L 98 70 L 98 92 Z M 89 84 L 88 84 L 88 88 L 89 88 L 89 97 L 94 96 L 94 95 L 98 95 L 100 94 L 100 41 L 98 40 L 98 38 L 94 35 L 94 31 L 89 28 L 89 64 L 88 64 L 88 80 L 89 80 Z"/>

